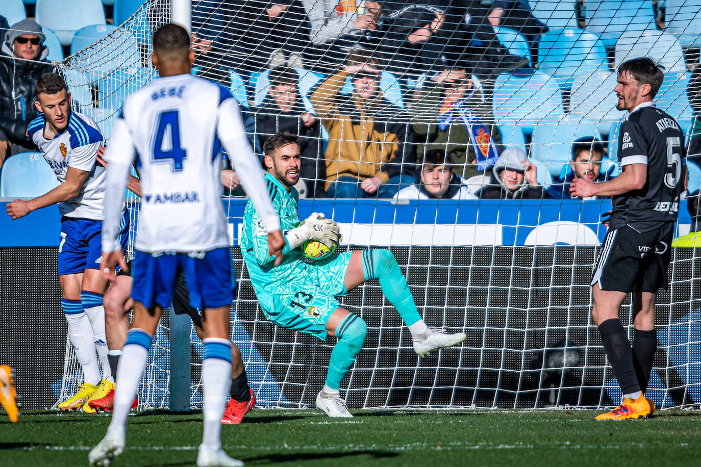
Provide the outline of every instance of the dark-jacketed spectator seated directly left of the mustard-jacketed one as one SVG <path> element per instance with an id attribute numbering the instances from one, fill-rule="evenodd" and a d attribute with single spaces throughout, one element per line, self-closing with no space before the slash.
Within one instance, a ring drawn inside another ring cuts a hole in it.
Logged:
<path id="1" fill-rule="evenodd" d="M 268 95 L 260 107 L 252 109 L 256 116 L 256 132 L 260 144 L 263 146 L 266 139 L 277 132 L 299 135 L 299 172 L 304 186 L 299 187 L 297 191 L 300 196 L 324 197 L 326 161 L 322 157 L 319 119 L 304 108 L 296 71 L 278 67 L 268 76 Z"/>

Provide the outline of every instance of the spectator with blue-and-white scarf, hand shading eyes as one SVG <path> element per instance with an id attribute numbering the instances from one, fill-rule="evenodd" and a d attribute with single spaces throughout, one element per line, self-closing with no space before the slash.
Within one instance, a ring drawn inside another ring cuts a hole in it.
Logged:
<path id="1" fill-rule="evenodd" d="M 414 92 L 409 113 L 419 159 L 442 148 L 455 161 L 453 172 L 463 179 L 491 174 L 501 140 L 491 105 L 484 102 L 467 67 L 446 67 L 428 79 Z"/>

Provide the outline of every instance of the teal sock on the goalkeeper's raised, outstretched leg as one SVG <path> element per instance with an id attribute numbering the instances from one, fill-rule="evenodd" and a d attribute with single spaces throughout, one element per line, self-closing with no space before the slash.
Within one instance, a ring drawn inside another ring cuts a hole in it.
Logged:
<path id="1" fill-rule="evenodd" d="M 374 248 L 362 252 L 362 273 L 365 280 L 379 279 L 382 293 L 388 302 L 397 309 L 404 324 L 411 326 L 421 321 L 416 311 L 414 297 L 409 291 L 409 284 L 400 270 L 393 253 L 386 249 Z"/>

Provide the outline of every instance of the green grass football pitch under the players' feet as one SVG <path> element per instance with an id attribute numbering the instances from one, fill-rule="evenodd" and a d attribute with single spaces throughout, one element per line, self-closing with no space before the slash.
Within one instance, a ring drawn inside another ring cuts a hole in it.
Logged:
<path id="1" fill-rule="evenodd" d="M 693 466 L 701 413 L 666 410 L 650 419 L 594 421 L 592 410 L 254 410 L 222 426 L 222 445 L 250 466 Z M 83 466 L 107 415 L 1 414 L 0 465 Z M 113 466 L 194 465 L 202 414 L 142 412 L 129 418 L 127 447 Z"/>

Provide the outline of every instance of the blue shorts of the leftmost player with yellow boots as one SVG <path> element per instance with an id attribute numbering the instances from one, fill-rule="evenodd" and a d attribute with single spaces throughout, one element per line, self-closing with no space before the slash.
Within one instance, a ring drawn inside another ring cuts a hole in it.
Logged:
<path id="1" fill-rule="evenodd" d="M 86 269 L 100 269 L 102 264 L 102 221 L 61 218 L 61 237 L 58 244 L 58 275 L 78 274 Z M 129 213 L 119 225 L 122 249 L 129 237 Z"/>

